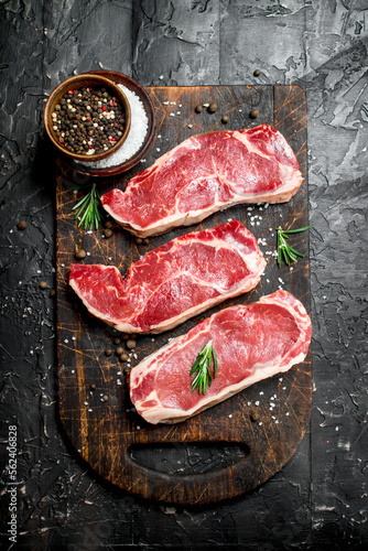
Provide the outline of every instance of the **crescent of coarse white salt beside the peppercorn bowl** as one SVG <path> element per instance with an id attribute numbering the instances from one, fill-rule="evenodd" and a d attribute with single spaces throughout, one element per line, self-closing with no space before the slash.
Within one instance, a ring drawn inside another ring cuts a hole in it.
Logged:
<path id="1" fill-rule="evenodd" d="M 94 163 L 80 163 L 89 169 L 108 169 L 110 166 L 118 166 L 119 164 L 131 159 L 137 151 L 140 150 L 142 143 L 144 142 L 147 131 L 149 128 L 149 119 L 144 109 L 142 101 L 139 96 L 126 86 L 121 84 L 118 85 L 122 89 L 130 105 L 130 130 L 128 137 L 121 148 L 118 149 L 112 155 L 102 161 L 96 161 Z M 76 161 L 80 162 L 80 161 Z"/>

